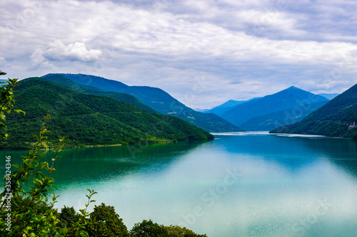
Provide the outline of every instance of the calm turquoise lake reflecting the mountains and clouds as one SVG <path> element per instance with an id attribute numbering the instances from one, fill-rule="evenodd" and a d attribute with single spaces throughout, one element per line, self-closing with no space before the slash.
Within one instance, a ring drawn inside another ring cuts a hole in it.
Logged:
<path id="1" fill-rule="evenodd" d="M 151 218 L 210 237 L 356 236 L 357 142 L 267 132 L 215 137 L 63 150 L 56 207 L 83 209 L 86 189 L 94 189 L 94 204 L 114 206 L 129 229 Z M 13 163 L 21 153 L 0 152 Z"/>

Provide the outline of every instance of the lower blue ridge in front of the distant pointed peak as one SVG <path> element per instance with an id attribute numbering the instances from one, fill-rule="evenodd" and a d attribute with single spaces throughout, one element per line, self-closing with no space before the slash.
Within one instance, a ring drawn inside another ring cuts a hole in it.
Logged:
<path id="1" fill-rule="evenodd" d="M 250 131 L 270 131 L 283 125 L 289 125 L 294 122 L 303 120 L 304 117 L 316 111 L 318 108 L 326 105 L 328 101 L 313 103 L 311 105 L 304 105 L 293 107 L 278 112 L 273 112 L 268 115 L 253 117 L 251 120 L 244 122 L 241 127 Z"/>

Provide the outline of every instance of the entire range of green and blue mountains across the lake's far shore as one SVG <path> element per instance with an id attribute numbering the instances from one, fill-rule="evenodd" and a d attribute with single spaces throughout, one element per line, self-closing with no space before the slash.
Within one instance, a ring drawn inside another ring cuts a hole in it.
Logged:
<path id="1" fill-rule="evenodd" d="M 3 142 L 4 147 L 29 147 L 26 139 L 36 132 L 31 128 L 38 128 L 39 118 L 47 113 L 54 115 L 54 132 L 69 133 L 69 147 L 212 139 L 208 132 L 243 129 L 353 137 L 357 127 L 356 86 L 341 95 L 315 95 L 292 86 L 263 98 L 228 100 L 204 113 L 186 107 L 159 88 L 129 86 L 94 75 L 51 73 L 22 80 L 18 90 L 17 105 L 28 115 L 26 119 L 9 115 L 9 131 L 16 132 L 12 139 L 17 142 Z M 36 93 L 41 96 L 34 97 Z M 21 126 L 26 130 L 20 130 Z"/>

